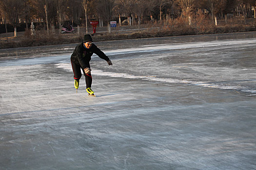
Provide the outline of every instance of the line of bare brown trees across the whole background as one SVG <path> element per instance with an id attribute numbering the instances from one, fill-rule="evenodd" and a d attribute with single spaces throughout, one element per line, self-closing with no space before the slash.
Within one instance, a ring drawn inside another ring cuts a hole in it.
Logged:
<path id="1" fill-rule="evenodd" d="M 217 19 L 229 16 L 256 17 L 256 0 L 0 0 L 0 22 L 26 27 L 35 20 L 61 27 L 65 20 L 86 25 L 100 20 L 103 25 L 117 20 L 127 24 L 162 23 L 169 18 L 182 17 L 188 24 L 201 11 L 217 24 Z M 87 30 L 86 30 L 87 31 Z M 16 35 L 16 33 L 15 33 Z"/>

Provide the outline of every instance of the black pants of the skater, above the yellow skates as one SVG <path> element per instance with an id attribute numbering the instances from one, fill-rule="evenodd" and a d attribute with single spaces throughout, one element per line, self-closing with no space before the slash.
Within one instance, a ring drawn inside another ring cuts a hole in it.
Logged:
<path id="1" fill-rule="evenodd" d="M 71 58 L 71 65 L 74 72 L 74 79 L 79 80 L 82 76 L 81 66 L 79 65 L 79 62 L 76 62 L 74 59 Z M 86 88 L 92 87 L 93 78 L 91 73 L 86 74 L 83 70 L 83 75 L 85 76 Z"/>

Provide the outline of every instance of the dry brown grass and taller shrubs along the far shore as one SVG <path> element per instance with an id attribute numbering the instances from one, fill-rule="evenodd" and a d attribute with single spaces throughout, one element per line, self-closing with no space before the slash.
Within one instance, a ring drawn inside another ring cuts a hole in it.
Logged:
<path id="1" fill-rule="evenodd" d="M 106 40 L 120 40 L 120 39 L 133 39 L 133 38 L 149 38 L 149 37 L 163 37 L 163 36 L 176 36 L 176 35 L 191 35 L 191 34 L 216 34 L 216 33 L 234 33 L 256 31 L 256 19 L 252 19 L 248 24 L 244 24 L 243 18 L 231 18 L 228 23 L 219 24 L 216 26 L 212 20 L 198 12 L 191 17 L 191 25 L 188 19 L 179 17 L 177 19 L 165 20 L 163 24 L 157 22 L 148 25 L 142 25 L 143 30 L 130 31 L 129 33 L 115 31 L 109 34 L 95 34 L 94 41 Z M 28 47 L 28 46 L 43 46 L 43 45 L 56 45 L 67 43 L 82 42 L 83 34 L 64 34 L 49 33 L 46 31 L 36 31 L 36 35 L 30 35 L 30 32 L 25 32 L 18 38 L 12 37 L 0 38 L 0 48 L 14 48 L 14 47 Z"/>

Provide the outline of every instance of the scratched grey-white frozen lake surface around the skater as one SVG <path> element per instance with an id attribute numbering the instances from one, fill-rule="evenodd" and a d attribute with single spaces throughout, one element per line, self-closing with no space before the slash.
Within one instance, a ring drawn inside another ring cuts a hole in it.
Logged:
<path id="1" fill-rule="evenodd" d="M 0 170 L 255 170 L 256 32 L 0 49 Z"/>

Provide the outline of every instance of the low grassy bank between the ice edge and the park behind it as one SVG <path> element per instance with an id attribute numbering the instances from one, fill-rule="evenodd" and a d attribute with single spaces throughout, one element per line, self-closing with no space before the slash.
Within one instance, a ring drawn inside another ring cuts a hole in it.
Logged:
<path id="1" fill-rule="evenodd" d="M 30 31 L 19 32 L 18 36 L 14 37 L 13 33 L 0 35 L 0 48 L 16 48 L 30 46 L 57 45 L 67 43 L 82 42 L 83 35 L 86 34 L 85 27 L 76 28 L 79 33 L 59 34 L 58 30 L 36 31 L 36 35 L 30 35 Z M 108 41 L 121 39 L 136 39 L 136 38 L 151 38 L 177 35 L 196 35 L 196 34 L 220 34 L 220 33 L 236 33 L 256 31 L 256 20 L 253 19 L 248 24 L 220 24 L 215 26 L 196 25 L 189 26 L 184 23 L 166 23 L 164 25 L 141 25 L 138 26 L 122 26 L 107 31 L 107 27 L 97 28 L 97 33 L 92 34 L 92 28 L 89 28 L 88 33 L 93 35 L 94 41 Z"/>

